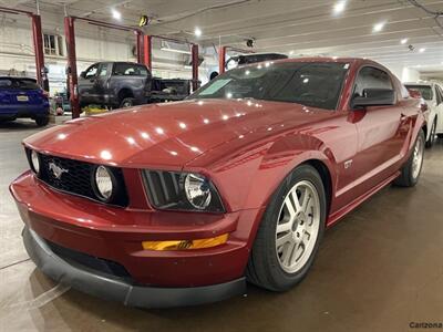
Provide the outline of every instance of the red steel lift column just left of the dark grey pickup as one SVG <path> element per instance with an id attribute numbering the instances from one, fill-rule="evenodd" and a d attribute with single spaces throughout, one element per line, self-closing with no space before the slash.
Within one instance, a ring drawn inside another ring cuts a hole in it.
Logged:
<path id="1" fill-rule="evenodd" d="M 64 35 L 68 49 L 68 89 L 70 91 L 72 118 L 80 117 L 74 21 L 75 18 L 64 18 Z"/>

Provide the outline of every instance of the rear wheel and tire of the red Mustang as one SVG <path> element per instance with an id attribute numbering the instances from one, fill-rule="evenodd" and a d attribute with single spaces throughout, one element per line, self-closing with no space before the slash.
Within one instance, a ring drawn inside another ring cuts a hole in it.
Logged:
<path id="1" fill-rule="evenodd" d="M 401 175 L 394 180 L 394 185 L 400 187 L 413 187 L 416 185 L 423 166 L 425 139 L 423 131 L 420 131 L 414 147 L 412 148 L 411 156 L 406 164 L 403 165 Z"/>

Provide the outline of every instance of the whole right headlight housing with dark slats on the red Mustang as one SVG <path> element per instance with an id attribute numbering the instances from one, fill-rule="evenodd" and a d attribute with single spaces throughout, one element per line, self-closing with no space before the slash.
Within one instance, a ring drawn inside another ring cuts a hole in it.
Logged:
<path id="1" fill-rule="evenodd" d="M 151 204 L 158 209 L 224 212 L 213 183 L 196 173 L 143 170 Z"/>

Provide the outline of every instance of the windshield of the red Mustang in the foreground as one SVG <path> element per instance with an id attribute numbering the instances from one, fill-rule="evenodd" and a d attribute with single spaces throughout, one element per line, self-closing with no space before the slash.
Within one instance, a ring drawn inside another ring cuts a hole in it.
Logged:
<path id="1" fill-rule="evenodd" d="M 336 110 L 349 63 L 266 62 L 219 75 L 189 98 L 255 98 Z"/>

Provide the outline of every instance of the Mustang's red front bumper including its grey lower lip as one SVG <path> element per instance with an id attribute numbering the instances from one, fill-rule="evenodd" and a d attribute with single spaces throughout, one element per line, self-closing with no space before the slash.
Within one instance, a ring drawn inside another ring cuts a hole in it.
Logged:
<path id="1" fill-rule="evenodd" d="M 10 190 L 25 224 L 29 255 L 44 273 L 73 288 L 144 307 L 171 304 L 168 299 L 155 304 L 152 299 L 157 299 L 157 293 L 174 299 L 174 305 L 186 305 L 223 300 L 245 290 L 243 277 L 258 209 L 206 215 L 111 207 L 59 193 L 31 172 L 16 179 Z M 222 234 L 229 234 L 228 241 L 213 248 L 156 251 L 142 247 L 144 240 L 199 239 Z M 90 266 L 81 261 L 79 267 L 79 261 L 53 246 L 99 262 Z M 107 273 L 106 269 L 102 273 L 103 261 L 110 262 L 110 270 L 119 266 L 127 278 L 122 280 L 121 274 Z"/>

